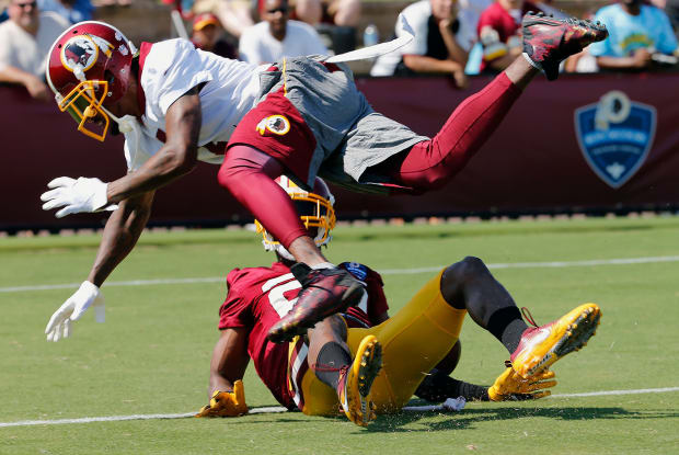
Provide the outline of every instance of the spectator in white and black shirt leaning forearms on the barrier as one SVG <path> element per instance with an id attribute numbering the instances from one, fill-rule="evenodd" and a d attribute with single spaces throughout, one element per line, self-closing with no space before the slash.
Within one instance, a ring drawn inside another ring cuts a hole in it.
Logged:
<path id="1" fill-rule="evenodd" d="M 402 14 L 415 31 L 415 39 L 378 58 L 370 75 L 446 73 L 454 78 L 458 87 L 467 87 L 464 66 L 476 39 L 475 23 L 460 20 L 452 0 L 422 0 Z"/>

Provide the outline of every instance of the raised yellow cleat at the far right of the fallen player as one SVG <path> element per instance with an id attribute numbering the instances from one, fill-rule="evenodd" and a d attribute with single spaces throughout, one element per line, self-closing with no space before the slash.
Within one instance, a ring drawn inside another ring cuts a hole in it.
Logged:
<path id="1" fill-rule="evenodd" d="M 545 371 L 559 359 L 585 346 L 596 333 L 601 311 L 596 304 L 585 304 L 540 327 L 530 314 L 526 316 L 536 327 L 523 331 L 510 357 L 511 367 L 523 378 Z"/>

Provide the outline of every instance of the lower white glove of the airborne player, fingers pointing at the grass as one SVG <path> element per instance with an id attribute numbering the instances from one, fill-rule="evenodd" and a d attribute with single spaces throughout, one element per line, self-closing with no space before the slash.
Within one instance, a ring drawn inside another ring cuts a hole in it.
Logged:
<path id="1" fill-rule="evenodd" d="M 96 321 L 104 322 L 104 295 L 96 285 L 84 281 L 80 288 L 49 318 L 45 329 L 47 341 L 57 342 L 61 338 L 68 338 L 72 333 L 71 321 L 80 319 L 91 305 L 94 307 L 94 318 Z"/>

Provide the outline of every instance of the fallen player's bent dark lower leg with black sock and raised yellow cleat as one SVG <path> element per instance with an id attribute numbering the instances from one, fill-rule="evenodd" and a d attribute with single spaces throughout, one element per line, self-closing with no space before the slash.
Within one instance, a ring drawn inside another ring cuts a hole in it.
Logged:
<path id="1" fill-rule="evenodd" d="M 534 328 L 528 328 L 507 289 L 477 258 L 465 258 L 446 269 L 441 294 L 505 345 L 513 367 L 523 377 L 537 375 L 583 348 L 600 318 L 597 305 L 585 304 L 541 327 L 531 318 Z"/>

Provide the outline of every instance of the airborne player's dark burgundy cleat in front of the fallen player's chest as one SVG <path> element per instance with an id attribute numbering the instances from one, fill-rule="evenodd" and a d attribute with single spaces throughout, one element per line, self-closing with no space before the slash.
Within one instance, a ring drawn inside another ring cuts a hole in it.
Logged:
<path id="1" fill-rule="evenodd" d="M 317 322 L 357 305 L 364 295 L 364 286 L 344 269 L 312 270 L 298 262 L 290 271 L 302 285 L 295 307 L 268 331 L 274 343 L 290 341 Z"/>

